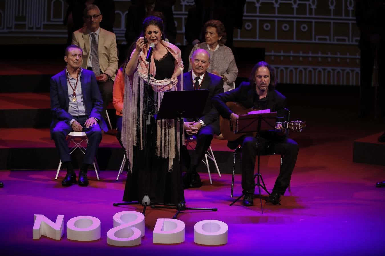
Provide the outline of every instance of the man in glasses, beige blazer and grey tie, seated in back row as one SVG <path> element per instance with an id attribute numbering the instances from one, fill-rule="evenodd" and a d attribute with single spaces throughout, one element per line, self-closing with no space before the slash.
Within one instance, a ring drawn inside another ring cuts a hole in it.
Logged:
<path id="1" fill-rule="evenodd" d="M 88 5 L 84 9 L 86 26 L 75 31 L 72 44 L 83 49 L 82 68 L 95 73 L 97 83 L 103 98 L 102 117 L 106 117 L 106 109 L 112 99 L 112 87 L 118 68 L 116 36 L 99 24 L 103 15 L 96 5 Z"/>

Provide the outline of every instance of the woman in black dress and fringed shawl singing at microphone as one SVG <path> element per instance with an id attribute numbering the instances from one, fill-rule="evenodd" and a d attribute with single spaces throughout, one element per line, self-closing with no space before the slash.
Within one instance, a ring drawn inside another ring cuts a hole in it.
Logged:
<path id="1" fill-rule="evenodd" d="M 154 203 L 179 203 L 184 194 L 178 193 L 179 124 L 173 120 L 157 121 L 162 95 L 165 91 L 182 90 L 183 63 L 181 51 L 162 40 L 163 21 L 150 16 L 143 21 L 143 36 L 125 68 L 125 92 L 122 121 L 122 144 L 126 150 L 131 173 L 127 175 L 123 201 L 142 201 L 149 195 Z M 152 50 L 147 103 L 146 61 L 150 44 Z M 150 124 L 146 124 L 146 108 Z M 183 191 L 183 190 L 181 190 Z"/>

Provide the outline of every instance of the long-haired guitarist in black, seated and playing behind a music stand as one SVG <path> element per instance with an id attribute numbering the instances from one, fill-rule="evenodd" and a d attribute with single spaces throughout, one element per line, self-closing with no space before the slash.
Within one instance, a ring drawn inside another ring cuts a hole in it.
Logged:
<path id="1" fill-rule="evenodd" d="M 286 97 L 275 90 L 276 84 L 277 79 L 273 69 L 268 63 L 261 61 L 251 71 L 249 82 L 243 82 L 232 91 L 214 96 L 213 104 L 223 118 L 231 119 L 233 122 L 238 119 L 238 114 L 231 111 L 226 102 L 239 102 L 246 108 L 270 109 L 271 112 L 277 111 L 277 116 L 282 117 L 286 107 Z M 254 167 L 258 151 L 283 155 L 280 174 L 268 201 L 274 205 L 278 204 L 281 195 L 285 193 L 290 184 L 291 173 L 297 160 L 298 145 L 294 140 L 286 137 L 285 129 L 281 124 L 278 124 L 276 129 L 281 130 L 281 132 L 265 131 L 259 134 L 258 148 L 257 139 L 253 136 L 243 135 L 228 142 L 228 147 L 231 149 L 235 149 L 238 145 L 242 146 L 242 188 L 245 193 L 242 204 L 244 206 L 253 205 Z"/>

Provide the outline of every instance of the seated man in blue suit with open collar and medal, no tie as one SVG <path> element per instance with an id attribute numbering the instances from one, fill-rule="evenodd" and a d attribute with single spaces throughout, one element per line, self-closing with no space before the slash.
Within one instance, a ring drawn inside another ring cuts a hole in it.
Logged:
<path id="1" fill-rule="evenodd" d="M 83 51 L 77 45 L 65 49 L 64 61 L 67 66 L 51 78 L 51 138 L 59 150 L 60 159 L 67 166 L 63 186 L 76 183 L 76 174 L 71 165 L 68 144 L 65 137 L 72 131 L 84 131 L 89 139 L 83 164 L 79 172 L 79 185 L 87 186 L 87 168 L 94 163 L 95 154 L 102 140 L 102 130 L 107 125 L 101 117 L 102 96 L 95 74 L 82 69 Z"/>

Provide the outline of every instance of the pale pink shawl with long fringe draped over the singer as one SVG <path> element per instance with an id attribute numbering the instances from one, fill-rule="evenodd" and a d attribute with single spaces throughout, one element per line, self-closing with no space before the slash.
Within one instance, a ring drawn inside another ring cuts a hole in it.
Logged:
<path id="1" fill-rule="evenodd" d="M 183 90 L 183 63 L 181 51 L 175 45 L 169 42 L 161 40 L 160 43 L 167 48 L 167 51 L 175 58 L 174 72 L 180 68 L 181 75 L 178 77 L 178 84 L 172 86 L 171 78 L 156 80 L 156 68 L 154 64 L 154 58 L 151 56 L 150 73 L 150 86 L 155 91 L 155 112 L 159 109 L 162 97 L 165 91 L 179 91 Z M 136 50 L 132 51 L 131 57 Z M 143 118 L 144 110 L 144 87 L 147 83 L 148 62 L 146 61 L 147 50 L 143 49 L 139 55 L 139 63 L 137 70 L 131 76 L 125 77 L 125 92 L 124 92 L 124 110 L 122 120 L 122 137 L 121 141 L 126 150 L 126 157 L 129 162 L 129 168 L 132 172 L 132 150 L 133 146 L 140 146 L 143 149 L 144 138 L 142 137 L 143 128 L 146 126 L 146 119 Z M 138 107 L 138 105 L 140 107 Z M 139 115 L 138 115 L 139 111 Z M 139 137 L 137 136 L 137 129 L 140 129 Z M 157 150 L 156 154 L 159 157 L 169 159 L 168 170 L 172 170 L 172 160 L 176 155 L 176 147 L 180 154 L 179 149 L 179 124 L 175 120 L 158 120 L 157 132 L 156 132 Z M 182 134 L 183 136 L 183 134 Z M 176 141 L 177 139 L 177 141 Z"/>

